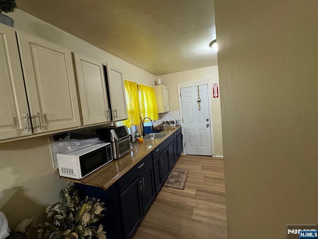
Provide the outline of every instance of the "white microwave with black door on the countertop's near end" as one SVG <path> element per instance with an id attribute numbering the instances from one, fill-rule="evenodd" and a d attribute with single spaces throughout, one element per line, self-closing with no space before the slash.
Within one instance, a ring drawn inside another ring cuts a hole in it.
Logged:
<path id="1" fill-rule="evenodd" d="M 111 144 L 98 143 L 71 153 L 57 154 L 59 174 L 81 179 L 113 160 Z"/>

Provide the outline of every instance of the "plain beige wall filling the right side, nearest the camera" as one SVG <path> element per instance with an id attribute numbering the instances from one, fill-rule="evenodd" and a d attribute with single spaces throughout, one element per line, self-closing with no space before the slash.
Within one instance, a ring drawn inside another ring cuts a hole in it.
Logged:
<path id="1" fill-rule="evenodd" d="M 229 239 L 318 222 L 318 1 L 214 0 Z"/>

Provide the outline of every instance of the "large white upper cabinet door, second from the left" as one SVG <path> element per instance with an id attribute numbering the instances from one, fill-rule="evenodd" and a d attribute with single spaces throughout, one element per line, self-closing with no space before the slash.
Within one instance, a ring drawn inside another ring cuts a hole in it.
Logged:
<path id="1" fill-rule="evenodd" d="M 17 32 L 34 133 L 80 126 L 70 50 Z"/>

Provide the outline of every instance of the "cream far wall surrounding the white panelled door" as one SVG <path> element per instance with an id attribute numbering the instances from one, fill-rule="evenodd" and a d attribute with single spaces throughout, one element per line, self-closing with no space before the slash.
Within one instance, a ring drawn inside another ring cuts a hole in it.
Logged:
<path id="1" fill-rule="evenodd" d="M 210 86 L 212 87 L 213 83 L 219 83 L 219 72 L 218 66 L 216 65 L 161 75 L 158 76 L 158 78 L 161 79 L 162 85 L 168 88 L 170 111 L 179 111 L 180 109 L 177 84 L 209 79 Z M 219 89 L 219 91 L 221 91 L 220 97 L 222 98 L 222 89 Z M 220 97 L 211 99 L 215 156 L 223 156 Z"/>

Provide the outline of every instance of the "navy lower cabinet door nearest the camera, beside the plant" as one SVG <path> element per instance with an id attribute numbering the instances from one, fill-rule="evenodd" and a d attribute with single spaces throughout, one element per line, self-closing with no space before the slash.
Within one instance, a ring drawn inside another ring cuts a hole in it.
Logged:
<path id="1" fill-rule="evenodd" d="M 138 177 L 121 195 L 121 216 L 124 229 L 124 238 L 129 239 L 138 228 L 143 217 L 142 182 Z"/>

